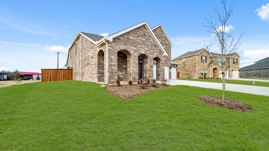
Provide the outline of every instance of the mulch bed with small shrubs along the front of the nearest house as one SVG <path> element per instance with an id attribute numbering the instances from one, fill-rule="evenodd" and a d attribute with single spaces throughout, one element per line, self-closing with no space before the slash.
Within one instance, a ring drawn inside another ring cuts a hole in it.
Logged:
<path id="1" fill-rule="evenodd" d="M 141 89 L 141 85 L 131 85 L 131 86 L 123 85 L 120 87 L 109 86 L 109 87 L 106 87 L 105 91 L 120 99 L 130 99 L 132 97 L 139 96 L 149 91 L 171 87 L 170 85 L 167 85 L 167 86 L 163 86 L 162 84 L 157 84 L 157 85 L 158 86 L 156 88 L 156 87 L 152 87 L 152 85 L 149 84 L 146 86 L 144 90 Z"/>

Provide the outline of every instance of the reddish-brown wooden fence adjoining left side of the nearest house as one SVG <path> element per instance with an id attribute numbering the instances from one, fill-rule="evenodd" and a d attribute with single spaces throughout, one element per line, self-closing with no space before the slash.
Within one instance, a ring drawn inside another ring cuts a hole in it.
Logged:
<path id="1" fill-rule="evenodd" d="M 41 69 L 41 81 L 73 80 L 73 69 Z"/>

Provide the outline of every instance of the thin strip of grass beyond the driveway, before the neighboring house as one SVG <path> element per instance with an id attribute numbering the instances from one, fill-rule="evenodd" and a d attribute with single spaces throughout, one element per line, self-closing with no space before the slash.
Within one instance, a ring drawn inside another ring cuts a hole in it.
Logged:
<path id="1" fill-rule="evenodd" d="M 188 79 L 180 78 L 178 80 L 188 80 L 188 81 L 201 81 L 201 82 L 211 82 L 211 83 L 222 83 L 221 79 Z M 226 84 L 236 84 L 236 85 L 249 85 L 252 86 L 251 81 L 242 81 L 242 80 L 225 80 Z M 255 81 L 254 86 L 269 87 L 268 82 L 259 82 Z"/>

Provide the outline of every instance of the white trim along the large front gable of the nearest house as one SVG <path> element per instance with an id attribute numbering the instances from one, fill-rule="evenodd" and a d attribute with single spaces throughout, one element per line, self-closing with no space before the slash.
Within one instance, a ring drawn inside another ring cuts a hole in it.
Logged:
<path id="1" fill-rule="evenodd" d="M 143 25 L 146 26 L 146 28 L 148 29 L 149 33 L 151 34 L 151 36 L 153 37 L 153 39 L 155 40 L 155 42 L 157 43 L 157 45 L 159 46 L 159 48 L 161 49 L 161 51 L 163 52 L 163 54 L 164 54 L 164 55 L 168 55 L 168 54 L 166 53 L 166 51 L 164 50 L 164 48 L 162 47 L 162 45 L 160 44 L 159 40 L 157 39 L 157 37 L 155 36 L 155 34 L 153 33 L 153 31 L 151 30 L 150 26 L 148 25 L 148 23 L 147 23 L 146 21 L 145 21 L 145 22 L 142 22 L 142 23 L 140 23 L 140 24 L 134 25 L 134 26 L 132 26 L 132 27 L 126 28 L 126 29 L 124 29 L 124 30 L 122 30 L 122 31 L 119 31 L 119 32 L 114 33 L 114 34 L 112 34 L 112 35 L 109 35 L 109 36 L 107 36 L 107 37 L 104 37 L 104 38 L 102 38 L 101 40 L 99 40 L 96 44 L 97 44 L 97 45 L 100 45 L 100 44 L 103 42 L 102 40 L 104 40 L 104 39 L 107 39 L 107 40 L 109 40 L 109 41 L 113 41 L 113 38 L 118 37 L 118 36 L 120 36 L 120 35 L 123 35 L 123 34 L 129 32 L 129 31 L 134 30 L 134 29 L 136 29 L 136 28 L 139 28 L 139 27 L 141 27 L 141 26 L 143 26 Z"/>

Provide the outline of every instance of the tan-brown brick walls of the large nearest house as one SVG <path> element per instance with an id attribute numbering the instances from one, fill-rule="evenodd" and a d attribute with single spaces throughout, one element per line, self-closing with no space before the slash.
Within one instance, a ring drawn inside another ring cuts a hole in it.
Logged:
<path id="1" fill-rule="evenodd" d="M 160 59 L 157 63 L 157 78 L 158 80 L 164 78 L 164 66 L 167 65 L 169 68 L 171 66 L 171 46 L 161 29 L 156 28 L 153 32 L 157 39 L 163 44 L 163 48 L 166 50 L 168 56 L 163 56 L 163 52 L 154 41 L 145 25 L 114 38 L 112 42 L 108 42 L 109 84 L 115 83 L 116 78 L 120 78 L 124 81 L 139 81 L 139 55 L 144 57 L 144 79 L 153 79 L 153 64 L 156 63 L 154 58 Z M 76 44 L 70 49 L 68 62 L 66 64 L 70 66 L 70 68 L 73 68 L 74 80 L 106 82 L 105 47 L 105 44 L 99 47 L 83 36 L 76 39 Z M 104 52 L 101 56 L 98 55 L 100 50 Z M 120 56 L 118 56 L 118 52 L 120 52 Z M 124 57 L 127 58 L 124 60 Z M 127 67 L 125 62 L 127 63 Z M 102 67 L 100 67 L 100 65 Z M 127 74 L 125 75 L 126 70 Z M 171 69 L 169 69 L 169 77 L 171 78 Z"/>

